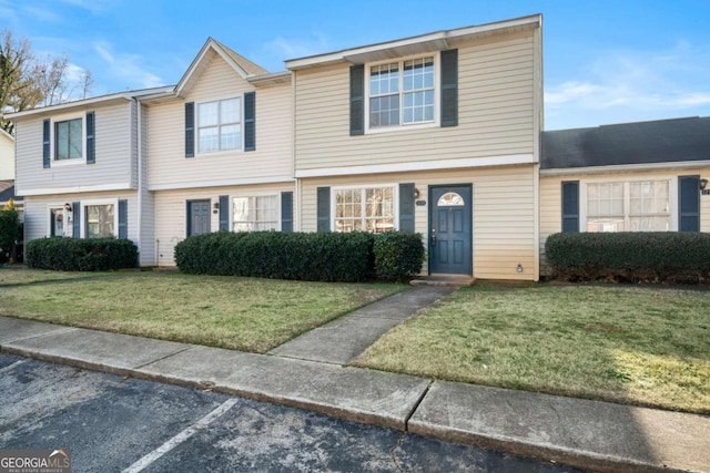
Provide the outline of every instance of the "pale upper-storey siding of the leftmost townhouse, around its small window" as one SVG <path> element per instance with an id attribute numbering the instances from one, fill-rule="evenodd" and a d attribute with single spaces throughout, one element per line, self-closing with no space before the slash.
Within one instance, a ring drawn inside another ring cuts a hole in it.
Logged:
<path id="1" fill-rule="evenodd" d="M 95 112 L 95 164 L 85 164 L 84 155 L 83 163 L 43 168 L 43 117 L 31 116 L 17 121 L 17 187 L 20 194 L 69 187 L 77 189 L 82 186 L 112 186 L 126 189 L 135 186 L 133 174 L 135 147 L 134 132 L 131 127 L 131 105 L 126 102 L 119 105 L 98 106 L 75 114 L 57 115 L 52 120 L 81 117 L 85 126 L 85 114 L 89 111 Z M 85 134 L 82 134 L 84 142 L 85 138 Z M 53 147 L 54 143 L 51 143 L 51 146 Z"/>

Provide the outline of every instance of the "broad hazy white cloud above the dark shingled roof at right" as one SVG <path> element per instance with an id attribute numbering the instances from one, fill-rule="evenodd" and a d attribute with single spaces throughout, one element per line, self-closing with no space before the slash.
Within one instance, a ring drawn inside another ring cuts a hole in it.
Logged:
<path id="1" fill-rule="evenodd" d="M 584 73 L 546 88 L 548 128 L 710 114 L 710 45 L 607 52 Z"/>

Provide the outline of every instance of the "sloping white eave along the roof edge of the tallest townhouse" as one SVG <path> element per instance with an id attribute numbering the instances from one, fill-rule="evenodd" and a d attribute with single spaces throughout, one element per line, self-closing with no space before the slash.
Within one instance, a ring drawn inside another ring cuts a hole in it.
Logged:
<path id="1" fill-rule="evenodd" d="M 418 37 L 352 48 L 326 54 L 292 59 L 285 63 L 286 69 L 292 71 L 346 62 L 352 64 L 363 64 L 372 61 L 384 61 L 412 54 L 443 51 L 449 48 L 456 48 L 456 44 L 463 41 L 469 41 L 471 39 L 489 37 L 493 34 L 526 31 L 541 28 L 541 25 L 542 16 L 534 14 L 514 20 L 457 28 L 455 30 L 443 30 L 434 33 L 420 34 Z"/>

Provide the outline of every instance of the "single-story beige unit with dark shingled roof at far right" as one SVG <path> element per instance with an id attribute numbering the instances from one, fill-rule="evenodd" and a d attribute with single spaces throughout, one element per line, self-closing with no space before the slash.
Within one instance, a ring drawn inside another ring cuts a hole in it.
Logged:
<path id="1" fill-rule="evenodd" d="M 540 253 L 558 232 L 710 232 L 710 117 L 542 133 Z"/>

